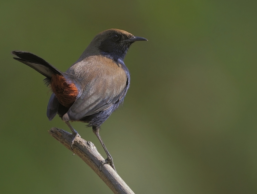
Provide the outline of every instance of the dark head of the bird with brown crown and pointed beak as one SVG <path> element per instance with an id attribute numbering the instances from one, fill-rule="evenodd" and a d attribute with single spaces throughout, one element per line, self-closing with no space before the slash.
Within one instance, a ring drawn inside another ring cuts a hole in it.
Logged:
<path id="1" fill-rule="evenodd" d="M 130 45 L 136 41 L 147 41 L 147 39 L 133 36 L 124 30 L 109 29 L 96 35 L 89 46 L 97 47 L 95 49 L 101 54 L 115 60 L 123 60 Z"/>

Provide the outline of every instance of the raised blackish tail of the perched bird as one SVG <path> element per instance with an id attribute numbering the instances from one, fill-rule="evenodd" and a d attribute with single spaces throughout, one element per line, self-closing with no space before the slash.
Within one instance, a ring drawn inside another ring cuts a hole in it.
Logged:
<path id="1" fill-rule="evenodd" d="M 46 78 L 48 78 L 47 80 L 51 80 L 53 74 L 62 74 L 61 71 L 35 54 L 19 50 L 13 51 L 12 54 L 18 57 L 13 57 L 15 60 L 20 61 L 37 70 L 42 75 L 46 76 Z"/>

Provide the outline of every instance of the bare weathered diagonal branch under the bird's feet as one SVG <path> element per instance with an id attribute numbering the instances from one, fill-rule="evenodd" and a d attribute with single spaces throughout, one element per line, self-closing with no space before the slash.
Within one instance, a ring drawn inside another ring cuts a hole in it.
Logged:
<path id="1" fill-rule="evenodd" d="M 72 134 L 58 128 L 51 128 L 51 130 L 48 132 L 65 147 L 71 150 L 71 140 L 73 138 Z M 134 194 L 134 192 L 110 165 L 105 164 L 101 167 L 101 171 L 99 170 L 99 166 L 104 158 L 100 155 L 92 142 L 88 142 L 80 137 L 77 137 L 72 148 L 73 149 L 71 151 L 81 157 L 81 159 L 83 159 L 87 165 L 89 165 L 93 171 L 97 173 L 97 175 L 115 194 Z"/>

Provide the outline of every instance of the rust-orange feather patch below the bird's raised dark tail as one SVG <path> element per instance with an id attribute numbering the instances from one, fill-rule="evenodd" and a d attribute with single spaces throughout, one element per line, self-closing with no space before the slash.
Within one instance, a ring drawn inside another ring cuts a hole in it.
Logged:
<path id="1" fill-rule="evenodd" d="M 75 102 L 79 91 L 74 83 L 69 83 L 62 75 L 53 75 L 50 87 L 59 102 L 69 108 Z"/>

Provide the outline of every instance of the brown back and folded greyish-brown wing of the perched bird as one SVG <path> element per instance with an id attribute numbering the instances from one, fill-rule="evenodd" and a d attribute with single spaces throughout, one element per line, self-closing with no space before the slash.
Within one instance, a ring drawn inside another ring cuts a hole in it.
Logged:
<path id="1" fill-rule="evenodd" d="M 76 121 L 106 110 L 124 96 L 127 74 L 121 64 L 110 58 L 90 56 L 75 63 L 66 72 L 78 77 L 83 92 L 63 120 Z"/>

